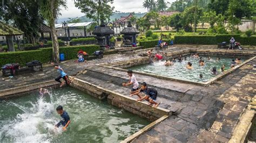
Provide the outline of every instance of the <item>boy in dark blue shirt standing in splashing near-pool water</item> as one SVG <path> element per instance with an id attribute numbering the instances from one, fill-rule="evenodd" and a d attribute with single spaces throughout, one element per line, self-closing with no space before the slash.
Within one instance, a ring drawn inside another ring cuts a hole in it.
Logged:
<path id="1" fill-rule="evenodd" d="M 62 117 L 62 120 L 60 120 L 59 123 L 55 125 L 55 127 L 59 127 L 60 125 L 62 125 L 62 130 L 66 131 L 66 127 L 68 127 L 70 124 L 70 117 L 68 115 L 68 112 L 64 111 L 63 107 L 60 105 L 56 108 L 56 111 Z"/>

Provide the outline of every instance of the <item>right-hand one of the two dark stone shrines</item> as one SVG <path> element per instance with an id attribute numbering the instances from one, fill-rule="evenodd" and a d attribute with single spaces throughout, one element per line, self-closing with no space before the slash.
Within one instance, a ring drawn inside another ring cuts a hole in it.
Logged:
<path id="1" fill-rule="evenodd" d="M 124 28 L 123 31 L 121 31 L 121 34 L 124 34 L 124 46 L 129 46 L 133 43 L 136 43 L 136 37 L 137 34 L 139 34 L 139 31 L 136 28 L 132 27 L 131 22 L 129 22 L 127 27 Z"/>

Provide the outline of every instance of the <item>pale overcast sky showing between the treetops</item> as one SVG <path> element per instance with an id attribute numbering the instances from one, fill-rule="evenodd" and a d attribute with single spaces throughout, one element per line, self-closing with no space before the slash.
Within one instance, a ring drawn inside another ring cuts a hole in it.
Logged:
<path id="1" fill-rule="evenodd" d="M 174 2 L 175 0 L 165 0 L 165 2 Z M 114 0 L 113 6 L 114 11 L 121 12 L 146 12 L 147 10 L 143 8 L 143 0 Z M 67 0 L 68 9 L 63 9 L 61 11 L 62 16 L 59 18 L 72 18 L 84 16 L 84 13 L 80 12 L 78 8 L 74 5 L 73 0 Z"/>

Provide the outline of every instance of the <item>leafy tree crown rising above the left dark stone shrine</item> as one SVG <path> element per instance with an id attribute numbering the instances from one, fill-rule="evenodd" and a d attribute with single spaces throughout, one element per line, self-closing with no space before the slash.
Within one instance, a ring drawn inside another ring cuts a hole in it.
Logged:
<path id="1" fill-rule="evenodd" d="M 113 3 L 113 0 L 80 0 L 74 2 L 75 6 L 85 13 L 86 17 L 93 19 L 98 25 L 101 20 L 110 20 L 114 10 L 114 7 L 109 4 Z"/>

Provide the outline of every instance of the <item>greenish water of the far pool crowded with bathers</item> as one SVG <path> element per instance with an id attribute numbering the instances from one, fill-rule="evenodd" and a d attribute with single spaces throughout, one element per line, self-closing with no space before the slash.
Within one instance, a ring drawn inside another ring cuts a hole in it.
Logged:
<path id="1" fill-rule="evenodd" d="M 185 57 L 185 56 L 184 56 Z M 183 58 L 184 58 L 183 57 Z M 208 60 L 208 56 L 200 56 L 203 58 L 205 62 L 205 66 L 199 65 L 199 58 L 194 58 L 190 55 L 186 56 L 186 60 L 181 62 L 173 62 L 174 65 L 166 67 L 164 66 L 165 61 L 157 61 L 147 65 L 140 65 L 131 67 L 134 71 L 138 71 L 141 73 L 154 74 L 158 76 L 165 76 L 176 78 L 179 80 L 192 81 L 192 82 L 207 82 L 211 78 L 213 78 L 214 74 L 212 74 L 211 70 L 213 67 L 217 68 L 218 74 L 221 74 L 221 66 L 225 65 L 225 70 L 230 69 L 232 59 L 228 57 L 217 57 L 211 56 L 211 59 Z M 217 60 L 220 58 L 220 60 Z M 241 59 L 243 61 L 243 59 Z M 187 69 L 187 62 L 192 63 L 193 69 Z M 203 78 L 199 78 L 199 75 L 203 74 Z"/>

